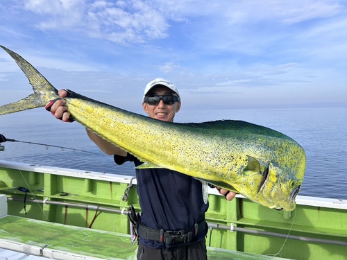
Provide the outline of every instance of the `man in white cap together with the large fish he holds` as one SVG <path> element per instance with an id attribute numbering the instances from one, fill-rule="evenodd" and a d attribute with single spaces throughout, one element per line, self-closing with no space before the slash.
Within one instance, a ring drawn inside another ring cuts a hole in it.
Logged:
<path id="1" fill-rule="evenodd" d="M 142 215 L 139 221 L 136 214 L 129 217 L 133 216 L 139 236 L 138 259 L 207 258 L 206 184 L 193 177 L 223 187 L 217 189 L 227 200 L 235 196 L 227 191 L 232 190 L 271 209 L 295 209 L 306 155 L 287 135 L 244 121 L 174 125 L 171 122 L 180 110 L 180 94 L 174 84 L 162 78 L 146 85 L 142 106 L 150 118 L 71 90 L 60 90 L 58 96 L 58 90 L 35 67 L 0 47 L 17 62 L 34 91 L 20 101 L 1 105 L 0 115 L 46 106 L 56 118 L 76 119 L 92 129 L 87 130 L 90 139 L 104 153 L 114 155 L 117 164 L 135 164 Z M 117 126 L 110 129 L 110 125 Z M 187 139 L 194 145 L 189 146 Z M 203 153 L 206 158 L 201 157 Z"/>

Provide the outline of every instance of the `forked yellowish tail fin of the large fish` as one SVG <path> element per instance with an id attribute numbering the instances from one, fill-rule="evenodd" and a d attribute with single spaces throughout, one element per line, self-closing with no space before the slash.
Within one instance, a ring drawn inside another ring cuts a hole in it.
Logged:
<path id="1" fill-rule="evenodd" d="M 23 110 L 31 110 L 36 107 L 44 107 L 50 100 L 58 98 L 58 90 L 49 83 L 44 76 L 41 75 L 29 62 L 24 60 L 17 53 L 10 51 L 6 47 L 0 45 L 14 60 L 24 72 L 29 83 L 33 86 L 34 94 L 21 99 L 20 101 L 2 105 L 0 107 L 0 115 L 10 114 Z"/>

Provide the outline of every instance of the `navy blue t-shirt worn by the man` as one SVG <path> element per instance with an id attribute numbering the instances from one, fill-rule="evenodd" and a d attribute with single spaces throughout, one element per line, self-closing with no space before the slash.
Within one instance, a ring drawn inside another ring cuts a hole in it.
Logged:
<path id="1" fill-rule="evenodd" d="M 134 162 L 142 164 L 137 157 L 115 155 L 115 162 Z M 136 169 L 137 193 L 142 209 L 141 222 L 146 227 L 164 230 L 181 230 L 194 227 L 205 219 L 208 203 L 203 202 L 202 184 L 189 175 L 166 168 Z M 208 232 L 201 232 L 190 243 L 201 241 Z M 142 245 L 149 248 L 169 248 L 171 246 L 158 241 L 139 238 Z"/>

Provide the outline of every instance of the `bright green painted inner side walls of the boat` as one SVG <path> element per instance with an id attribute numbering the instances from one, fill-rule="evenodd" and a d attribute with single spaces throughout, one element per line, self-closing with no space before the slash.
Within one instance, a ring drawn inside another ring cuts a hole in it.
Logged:
<path id="1" fill-rule="evenodd" d="M 89 176 L 88 176 L 89 177 Z M 25 179 L 25 180 L 24 180 Z M 3 167 L 0 164 L 0 193 L 6 193 L 9 198 L 24 198 L 24 193 L 8 190 L 10 187 L 30 188 L 28 199 L 57 202 L 73 202 L 85 205 L 99 205 L 111 209 L 128 209 L 133 204 L 141 211 L 138 204 L 136 188 L 130 189 L 128 201 L 121 200 L 128 184 L 110 180 L 88 180 L 85 177 L 55 175 L 33 171 L 19 172 L 16 169 Z M 27 187 L 29 183 L 29 187 Z M 44 189 L 44 192 L 37 191 Z M 59 196 L 65 191 L 78 196 Z M 313 239 L 327 239 L 347 243 L 347 210 L 331 209 L 328 207 L 313 207 L 298 205 L 296 210 L 289 213 L 276 211 L 257 205 L 243 198 L 235 198 L 228 202 L 223 196 L 209 196 L 210 209 L 206 217 L 209 223 L 235 227 L 291 234 Z M 9 201 L 9 214 L 49 220 L 53 223 L 89 227 L 95 216 L 95 210 L 60 205 L 42 205 L 27 202 L 28 214 L 24 214 L 24 202 Z M 128 218 L 121 214 L 102 212 L 97 214 L 93 229 L 107 230 L 130 234 Z M 208 232 L 207 245 L 212 248 L 222 248 L 245 253 L 276 254 L 287 259 L 334 259 L 346 260 L 346 245 L 298 241 L 260 234 L 230 232 L 225 229 L 212 229 Z M 212 258 L 213 259 L 213 258 Z"/>

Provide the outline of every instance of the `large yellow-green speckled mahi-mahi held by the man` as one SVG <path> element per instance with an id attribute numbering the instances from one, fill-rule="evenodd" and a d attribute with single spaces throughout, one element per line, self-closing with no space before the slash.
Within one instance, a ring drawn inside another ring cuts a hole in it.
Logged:
<path id="1" fill-rule="evenodd" d="M 0 107 L 10 114 L 44 107 L 58 91 L 21 56 L 17 62 L 34 94 Z M 68 90 L 67 111 L 86 128 L 141 159 L 140 167 L 169 168 L 275 209 L 292 210 L 305 174 L 303 148 L 275 130 L 244 121 L 169 123 Z"/>

